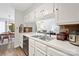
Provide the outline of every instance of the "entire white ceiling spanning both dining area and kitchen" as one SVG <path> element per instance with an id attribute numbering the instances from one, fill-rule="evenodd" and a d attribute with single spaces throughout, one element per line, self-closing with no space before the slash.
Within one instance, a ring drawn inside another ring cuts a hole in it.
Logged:
<path id="1" fill-rule="evenodd" d="M 41 5 L 40 3 L 0 3 L 0 18 L 12 18 L 14 19 L 15 10 L 29 13 L 35 7 Z"/>

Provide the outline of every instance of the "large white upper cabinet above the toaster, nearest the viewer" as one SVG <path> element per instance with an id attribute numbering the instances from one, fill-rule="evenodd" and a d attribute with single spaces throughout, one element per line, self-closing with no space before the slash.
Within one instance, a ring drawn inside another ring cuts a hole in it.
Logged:
<path id="1" fill-rule="evenodd" d="M 79 4 L 61 3 L 57 6 L 58 25 L 79 24 Z"/>

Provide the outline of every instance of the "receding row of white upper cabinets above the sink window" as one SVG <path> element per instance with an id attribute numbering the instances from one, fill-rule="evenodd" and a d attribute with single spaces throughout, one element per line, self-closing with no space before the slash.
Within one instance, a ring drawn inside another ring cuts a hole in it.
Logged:
<path id="1" fill-rule="evenodd" d="M 37 21 L 40 18 L 52 15 L 53 17 L 53 4 L 44 3 L 33 9 L 30 13 L 24 16 L 25 21 Z"/>

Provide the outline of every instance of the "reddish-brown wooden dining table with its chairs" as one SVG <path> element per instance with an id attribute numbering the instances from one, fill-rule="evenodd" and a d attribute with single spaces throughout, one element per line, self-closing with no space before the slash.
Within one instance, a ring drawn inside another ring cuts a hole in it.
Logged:
<path id="1" fill-rule="evenodd" d="M 12 39 L 14 38 L 14 32 L 2 32 L 0 33 L 0 43 L 5 44 L 5 40 L 7 41 L 7 44 L 12 42 Z"/>

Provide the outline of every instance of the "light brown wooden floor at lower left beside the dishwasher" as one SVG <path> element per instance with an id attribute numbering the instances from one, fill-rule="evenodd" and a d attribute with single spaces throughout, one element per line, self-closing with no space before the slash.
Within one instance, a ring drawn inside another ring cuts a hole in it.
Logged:
<path id="1" fill-rule="evenodd" d="M 18 48 L 8 48 L 7 45 L 0 46 L 0 56 L 26 56 L 24 51 Z"/>

